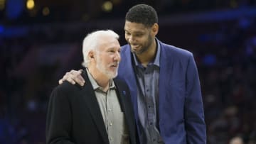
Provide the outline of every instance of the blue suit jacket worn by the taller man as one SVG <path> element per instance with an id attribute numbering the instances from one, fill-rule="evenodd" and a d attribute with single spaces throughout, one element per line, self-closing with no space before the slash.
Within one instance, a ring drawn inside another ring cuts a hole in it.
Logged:
<path id="1" fill-rule="evenodd" d="M 206 143 L 203 102 L 193 54 L 160 43 L 159 128 L 166 144 Z M 138 123 L 137 83 L 130 46 L 121 49 L 118 77 L 127 82 Z"/>

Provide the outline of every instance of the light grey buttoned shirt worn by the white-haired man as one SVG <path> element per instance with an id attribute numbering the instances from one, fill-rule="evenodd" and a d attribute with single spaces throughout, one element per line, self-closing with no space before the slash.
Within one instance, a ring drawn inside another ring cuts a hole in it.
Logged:
<path id="1" fill-rule="evenodd" d="M 116 87 L 113 79 L 110 79 L 110 88 L 104 92 L 90 72 L 87 70 L 88 77 L 95 91 L 97 102 L 100 106 L 102 118 L 105 123 L 107 135 L 110 144 L 125 143 L 129 144 L 129 135 L 124 119 L 124 113 L 121 110 L 119 100 L 117 98 Z"/>

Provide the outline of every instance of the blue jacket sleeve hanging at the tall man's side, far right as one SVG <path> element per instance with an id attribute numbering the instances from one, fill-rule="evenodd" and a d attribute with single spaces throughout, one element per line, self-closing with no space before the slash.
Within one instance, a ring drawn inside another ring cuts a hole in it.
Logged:
<path id="1" fill-rule="evenodd" d="M 198 70 L 193 55 L 189 57 L 186 71 L 185 125 L 187 143 L 206 143 L 206 123 Z"/>

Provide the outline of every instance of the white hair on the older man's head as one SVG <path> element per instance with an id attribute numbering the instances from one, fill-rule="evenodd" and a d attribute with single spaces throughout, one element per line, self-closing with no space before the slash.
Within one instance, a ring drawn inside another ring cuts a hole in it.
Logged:
<path id="1" fill-rule="evenodd" d="M 102 41 L 102 35 L 114 37 L 117 40 L 119 39 L 119 35 L 112 30 L 100 30 L 87 34 L 87 36 L 82 42 L 82 55 L 84 60 L 82 62 L 83 67 L 87 67 L 88 63 L 90 62 L 88 55 L 89 52 L 92 50 L 97 50 L 99 48 L 98 45 Z"/>

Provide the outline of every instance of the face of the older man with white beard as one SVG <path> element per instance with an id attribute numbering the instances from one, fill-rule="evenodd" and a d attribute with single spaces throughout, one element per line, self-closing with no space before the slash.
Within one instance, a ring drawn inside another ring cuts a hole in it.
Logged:
<path id="1" fill-rule="evenodd" d="M 109 79 L 117 77 L 120 60 L 118 40 L 110 36 L 102 38 L 99 48 L 95 52 L 95 67 L 97 70 Z"/>

